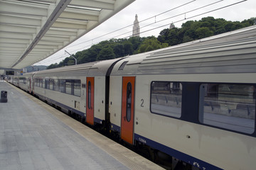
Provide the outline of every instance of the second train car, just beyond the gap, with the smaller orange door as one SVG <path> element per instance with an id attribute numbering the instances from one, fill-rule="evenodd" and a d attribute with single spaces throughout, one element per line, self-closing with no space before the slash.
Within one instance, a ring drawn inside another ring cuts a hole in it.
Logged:
<path id="1" fill-rule="evenodd" d="M 70 113 L 82 116 L 90 125 L 102 124 L 105 121 L 106 74 L 115 61 L 36 72 L 33 76 L 34 94 Z"/>

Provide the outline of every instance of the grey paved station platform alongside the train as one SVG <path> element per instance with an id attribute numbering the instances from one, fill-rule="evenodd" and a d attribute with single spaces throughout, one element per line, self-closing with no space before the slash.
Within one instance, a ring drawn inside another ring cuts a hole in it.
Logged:
<path id="1" fill-rule="evenodd" d="M 0 169 L 162 169 L 6 81 Z"/>

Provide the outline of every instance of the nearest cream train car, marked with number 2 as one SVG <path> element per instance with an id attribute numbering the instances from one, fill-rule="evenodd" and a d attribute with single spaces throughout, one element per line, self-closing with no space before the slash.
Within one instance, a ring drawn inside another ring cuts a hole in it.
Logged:
<path id="1" fill-rule="evenodd" d="M 252 26 L 117 62 L 112 131 L 199 169 L 254 169 L 255 56 Z"/>

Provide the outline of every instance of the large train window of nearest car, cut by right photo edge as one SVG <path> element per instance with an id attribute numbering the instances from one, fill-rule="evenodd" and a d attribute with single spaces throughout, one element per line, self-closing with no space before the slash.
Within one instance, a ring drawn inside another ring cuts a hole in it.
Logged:
<path id="1" fill-rule="evenodd" d="M 199 121 L 218 128 L 255 131 L 255 87 L 242 84 L 201 84 Z"/>

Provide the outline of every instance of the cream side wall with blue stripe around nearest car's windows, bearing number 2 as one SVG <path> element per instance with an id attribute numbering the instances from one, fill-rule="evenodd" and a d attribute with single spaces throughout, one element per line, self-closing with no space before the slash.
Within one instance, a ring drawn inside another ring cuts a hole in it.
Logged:
<path id="1" fill-rule="evenodd" d="M 182 82 L 185 78 L 189 80 L 193 77 L 193 81 L 204 82 L 212 77 L 213 82 L 223 82 L 223 80 L 230 81 L 231 79 L 228 78 L 234 77 L 233 84 L 237 84 L 234 81 L 238 82 L 240 78 L 235 77 L 236 75 L 205 74 L 201 75 L 201 78 L 198 75 L 137 75 L 135 101 L 139 102 L 135 104 L 135 140 L 205 169 L 253 169 L 256 157 L 255 137 L 201 125 L 198 121 L 196 123 L 184 121 L 177 116 L 166 116 L 160 111 L 164 107 L 159 108 L 158 113 L 154 113 L 151 106 L 154 103 L 151 100 L 156 99 L 151 96 L 152 81 Z M 242 79 L 248 78 L 245 75 L 243 77 Z M 245 81 L 256 83 L 251 79 Z M 183 97 L 189 98 L 189 96 Z M 165 102 L 166 105 L 171 102 L 170 98 L 161 98 L 161 96 L 157 99 L 159 103 Z M 199 100 L 199 98 L 190 99 Z M 182 104 L 189 105 L 189 103 Z M 199 119 L 195 111 L 183 114 L 195 115 Z M 242 161 L 245 159 L 246 161 Z"/>

